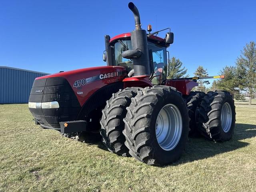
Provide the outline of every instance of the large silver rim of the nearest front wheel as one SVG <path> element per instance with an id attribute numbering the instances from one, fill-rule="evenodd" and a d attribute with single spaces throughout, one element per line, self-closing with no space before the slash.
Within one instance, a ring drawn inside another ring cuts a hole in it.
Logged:
<path id="1" fill-rule="evenodd" d="M 165 105 L 156 119 L 156 139 L 163 150 L 170 151 L 180 141 L 182 116 L 174 104 Z"/>

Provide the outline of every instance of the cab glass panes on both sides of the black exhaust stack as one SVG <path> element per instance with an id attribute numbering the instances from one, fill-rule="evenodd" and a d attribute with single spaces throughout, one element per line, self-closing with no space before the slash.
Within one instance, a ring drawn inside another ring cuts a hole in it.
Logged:
<path id="1" fill-rule="evenodd" d="M 115 65 L 122 66 L 129 72 L 133 69 L 133 62 L 130 59 L 122 57 L 122 52 L 126 48 L 131 49 L 131 40 L 122 40 L 114 44 L 115 50 Z M 166 58 L 166 47 L 148 42 L 149 53 L 152 54 L 150 58 L 153 59 L 154 74 L 151 79 L 152 84 L 160 85 L 163 80 L 166 79 L 167 74 L 167 58 Z"/>

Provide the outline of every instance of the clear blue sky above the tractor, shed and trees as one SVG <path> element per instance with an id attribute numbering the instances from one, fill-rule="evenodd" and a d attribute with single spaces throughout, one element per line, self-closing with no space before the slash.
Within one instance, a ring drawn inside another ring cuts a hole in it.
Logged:
<path id="1" fill-rule="evenodd" d="M 104 35 L 134 29 L 127 0 L 0 0 L 0 66 L 55 73 L 104 66 Z M 170 27 L 170 56 L 216 75 L 256 41 L 255 0 L 134 0 L 142 28 Z M 160 33 L 164 37 L 165 33 Z"/>

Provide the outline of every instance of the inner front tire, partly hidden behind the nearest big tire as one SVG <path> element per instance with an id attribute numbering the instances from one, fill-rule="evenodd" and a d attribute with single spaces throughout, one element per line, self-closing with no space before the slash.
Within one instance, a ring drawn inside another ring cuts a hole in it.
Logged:
<path id="1" fill-rule="evenodd" d="M 103 144 L 110 152 L 122 156 L 129 156 L 128 148 L 124 145 L 125 137 L 122 133 L 124 130 L 123 119 L 126 116 L 131 98 L 137 95 L 139 88 L 125 88 L 113 94 L 107 101 L 105 108 L 102 110 L 102 118 L 100 120 Z"/>

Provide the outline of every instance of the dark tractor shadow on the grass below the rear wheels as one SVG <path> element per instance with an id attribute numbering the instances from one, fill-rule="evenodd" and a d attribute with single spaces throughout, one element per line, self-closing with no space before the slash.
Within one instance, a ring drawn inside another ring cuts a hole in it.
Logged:
<path id="1" fill-rule="evenodd" d="M 214 142 L 206 140 L 205 138 L 189 138 L 180 160 L 173 165 L 192 162 L 204 158 L 209 158 L 217 154 L 230 152 L 249 145 L 247 142 L 240 140 L 252 138 L 256 136 L 256 125 L 251 124 L 236 124 L 234 135 L 230 141 Z"/>

